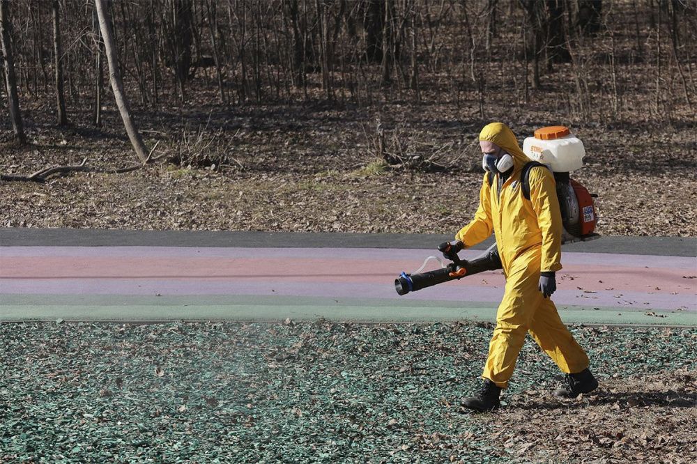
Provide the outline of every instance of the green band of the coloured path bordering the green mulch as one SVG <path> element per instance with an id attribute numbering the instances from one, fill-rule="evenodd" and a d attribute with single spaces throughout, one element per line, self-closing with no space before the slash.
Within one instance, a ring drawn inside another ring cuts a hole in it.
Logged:
<path id="1" fill-rule="evenodd" d="M 49 303 L 50 302 L 50 303 Z M 66 320 L 167 322 L 173 320 L 277 321 L 335 320 L 366 323 L 433 320 L 496 320 L 496 305 L 486 302 L 442 302 L 267 297 L 259 295 L 134 296 L 134 295 L 2 295 L 0 321 Z M 591 306 L 558 306 L 569 324 L 694 326 L 687 311 Z"/>

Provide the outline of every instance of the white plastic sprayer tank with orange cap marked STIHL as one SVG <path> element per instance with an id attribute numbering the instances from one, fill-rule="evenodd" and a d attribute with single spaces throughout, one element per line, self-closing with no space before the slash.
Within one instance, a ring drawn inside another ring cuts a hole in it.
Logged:
<path id="1" fill-rule="evenodd" d="M 571 172 L 583 167 L 585 148 L 568 127 L 554 125 L 542 127 L 535 131 L 535 137 L 525 139 L 523 153 L 553 172 Z"/>

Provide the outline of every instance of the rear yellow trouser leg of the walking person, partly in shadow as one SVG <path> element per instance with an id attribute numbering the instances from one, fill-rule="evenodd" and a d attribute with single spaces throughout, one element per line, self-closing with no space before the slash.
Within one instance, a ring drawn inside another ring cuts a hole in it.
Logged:
<path id="1" fill-rule="evenodd" d="M 588 367 L 588 355 L 562 323 L 551 300 L 542 299 L 530 322 L 530 335 L 562 372 L 579 373 Z"/>

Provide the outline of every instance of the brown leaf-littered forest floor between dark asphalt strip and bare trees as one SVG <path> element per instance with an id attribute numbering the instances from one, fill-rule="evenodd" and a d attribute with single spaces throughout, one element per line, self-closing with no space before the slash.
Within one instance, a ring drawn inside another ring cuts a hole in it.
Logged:
<path id="1" fill-rule="evenodd" d="M 477 134 L 500 120 L 521 144 L 537 127 L 572 127 L 586 148 L 585 167 L 572 177 L 599 195 L 597 232 L 697 235 L 697 129 L 687 117 L 584 125 L 516 107 L 491 109 L 482 120 L 472 107 L 437 103 L 201 108 L 137 114 L 148 146 L 159 142 L 156 161 L 143 169 L 0 183 L 0 226 L 454 233 L 479 199 Z M 137 162 L 113 111 L 102 130 L 85 128 L 82 114 L 59 129 L 45 107 L 24 112 L 30 144 L 13 146 L 3 130 L 0 173 L 85 159 L 95 169 Z M 378 117 L 385 150 L 406 162 L 378 160 Z"/>

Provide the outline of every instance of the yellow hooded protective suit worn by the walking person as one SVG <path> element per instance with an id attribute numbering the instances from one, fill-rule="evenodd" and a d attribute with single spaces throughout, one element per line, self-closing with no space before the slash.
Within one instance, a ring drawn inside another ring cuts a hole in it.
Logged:
<path id="1" fill-rule="evenodd" d="M 496 175 L 489 187 L 484 175 L 475 217 L 456 235 L 471 247 L 493 231 L 506 277 L 482 378 L 501 388 L 508 386 L 528 330 L 564 373 L 581 372 L 588 367 L 588 356 L 562 323 L 554 303 L 537 288 L 540 272 L 562 268 L 562 219 L 554 176 L 549 169 L 530 169 L 528 201 L 520 177 L 530 160 L 513 132 L 503 123 L 491 123 L 482 129 L 480 140 L 491 141 L 514 158 L 513 171 L 503 185 Z"/>

